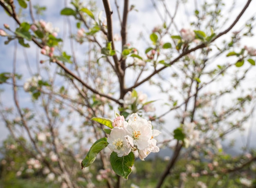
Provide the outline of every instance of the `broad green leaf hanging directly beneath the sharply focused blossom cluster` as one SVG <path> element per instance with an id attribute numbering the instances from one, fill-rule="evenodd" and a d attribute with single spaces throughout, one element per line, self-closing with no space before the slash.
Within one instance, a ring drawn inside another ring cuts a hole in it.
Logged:
<path id="1" fill-rule="evenodd" d="M 128 155 L 123 157 L 118 157 L 117 153 L 112 152 L 110 155 L 110 164 L 113 171 L 125 178 L 128 179 L 128 175 L 132 172 L 132 165 L 134 164 L 134 154 L 130 152 Z"/>

